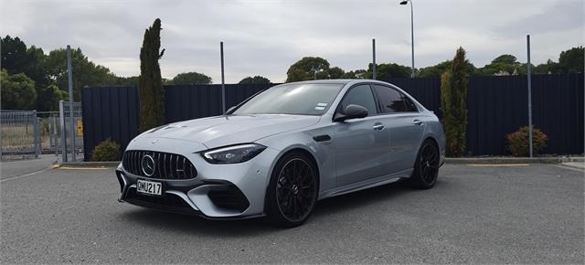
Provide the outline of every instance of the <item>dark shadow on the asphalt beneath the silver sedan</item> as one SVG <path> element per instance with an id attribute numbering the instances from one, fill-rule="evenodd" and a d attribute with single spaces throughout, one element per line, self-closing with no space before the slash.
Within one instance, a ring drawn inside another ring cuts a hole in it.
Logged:
<path id="1" fill-rule="evenodd" d="M 440 182 L 437 183 L 438 185 Z M 414 191 L 403 182 L 380 185 L 378 187 L 350 193 L 343 196 L 326 198 L 317 202 L 309 221 L 324 221 L 328 217 L 343 215 L 347 211 L 366 207 L 380 201 L 391 200 L 396 196 Z M 189 233 L 198 236 L 214 238 L 254 237 L 261 234 L 271 234 L 282 231 L 282 228 L 272 226 L 265 218 L 250 218 L 242 220 L 210 220 L 203 217 L 186 216 L 154 209 L 136 207 L 122 213 L 122 218 L 146 227 L 170 229 L 180 233 Z M 317 224 L 318 225 L 318 224 Z M 300 228 L 303 228 L 300 227 Z"/>

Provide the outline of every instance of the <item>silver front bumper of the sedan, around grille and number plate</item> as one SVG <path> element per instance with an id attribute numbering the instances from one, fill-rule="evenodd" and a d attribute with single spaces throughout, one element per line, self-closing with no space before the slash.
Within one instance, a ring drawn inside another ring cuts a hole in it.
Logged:
<path id="1" fill-rule="evenodd" d="M 207 218 L 260 217 L 264 214 L 266 186 L 277 154 L 277 151 L 267 148 L 250 161 L 239 164 L 209 164 L 200 154 L 181 154 L 197 168 L 197 177 L 191 179 L 133 175 L 120 164 L 116 169 L 121 188 L 119 200 L 141 207 Z M 163 196 L 137 193 L 138 179 L 162 183 Z"/>

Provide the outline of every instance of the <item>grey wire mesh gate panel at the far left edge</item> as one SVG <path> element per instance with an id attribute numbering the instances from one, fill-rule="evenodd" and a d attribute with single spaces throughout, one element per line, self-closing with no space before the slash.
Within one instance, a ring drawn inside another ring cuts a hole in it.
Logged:
<path id="1" fill-rule="evenodd" d="M 0 143 L 2 160 L 38 157 L 40 129 L 37 111 L 0 111 Z"/>

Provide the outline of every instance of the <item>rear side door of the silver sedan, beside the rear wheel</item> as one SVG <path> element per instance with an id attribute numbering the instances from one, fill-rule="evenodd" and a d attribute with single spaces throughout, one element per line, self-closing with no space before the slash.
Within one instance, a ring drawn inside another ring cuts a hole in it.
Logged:
<path id="1" fill-rule="evenodd" d="M 385 113 L 388 122 L 389 172 L 395 173 L 409 169 L 419 152 L 419 145 L 424 132 L 424 119 L 414 102 L 399 90 L 374 85 L 380 110 Z"/>

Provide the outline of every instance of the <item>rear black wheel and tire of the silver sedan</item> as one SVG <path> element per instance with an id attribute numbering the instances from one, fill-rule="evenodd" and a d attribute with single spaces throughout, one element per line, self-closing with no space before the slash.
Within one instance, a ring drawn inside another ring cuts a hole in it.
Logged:
<path id="1" fill-rule="evenodd" d="M 409 179 L 410 185 L 420 189 L 429 189 L 435 185 L 439 176 L 440 160 L 437 144 L 431 139 L 422 142 L 414 162 L 414 171 Z"/>

